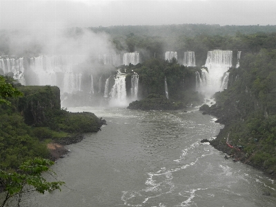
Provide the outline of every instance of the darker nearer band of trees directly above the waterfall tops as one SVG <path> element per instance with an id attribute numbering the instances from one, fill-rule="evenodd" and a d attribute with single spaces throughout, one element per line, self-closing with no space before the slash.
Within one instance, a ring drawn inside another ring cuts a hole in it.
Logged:
<path id="1" fill-rule="evenodd" d="M 112 43 L 118 52 L 139 51 L 141 61 L 151 57 L 164 59 L 166 51 L 176 51 L 179 63 L 184 61 L 184 52 L 195 51 L 197 66 L 203 66 L 206 61 L 207 52 L 210 50 L 233 50 L 233 64 L 237 62 L 237 51 L 242 51 L 242 56 L 248 52 L 259 52 L 262 48 L 276 48 L 276 33 L 258 32 L 254 34 L 243 34 L 237 32 L 235 35 L 228 34 L 210 35 L 199 34 L 188 37 L 180 34 L 178 37 L 150 37 L 139 36 L 130 33 L 125 37 L 113 37 Z"/>

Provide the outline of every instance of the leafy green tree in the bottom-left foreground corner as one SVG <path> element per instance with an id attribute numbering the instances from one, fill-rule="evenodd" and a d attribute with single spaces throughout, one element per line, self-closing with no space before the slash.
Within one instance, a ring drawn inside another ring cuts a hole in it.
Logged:
<path id="1" fill-rule="evenodd" d="M 49 159 L 35 158 L 23 162 L 18 172 L 0 170 L 0 184 L 6 193 L 1 207 L 13 198 L 17 199 L 17 206 L 20 206 L 22 195 L 26 193 L 37 191 L 43 194 L 46 191 L 61 190 L 60 186 L 65 184 L 63 181 L 48 182 L 41 175 L 43 172 L 56 175 L 49 168 L 53 164 Z"/>

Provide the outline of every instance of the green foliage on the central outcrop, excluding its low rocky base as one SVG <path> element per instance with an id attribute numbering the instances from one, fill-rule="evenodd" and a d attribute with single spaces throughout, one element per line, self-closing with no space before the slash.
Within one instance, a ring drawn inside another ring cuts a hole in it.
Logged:
<path id="1" fill-rule="evenodd" d="M 195 92 L 195 71 L 199 71 L 200 68 L 181 66 L 176 59 L 165 61 L 152 58 L 145 63 L 126 66 L 124 69 L 126 72 L 133 70 L 139 74 L 140 98 L 150 94 L 166 96 L 166 78 L 170 101 L 181 101 L 184 106 L 191 103 L 199 104 L 203 101 L 203 96 Z"/>

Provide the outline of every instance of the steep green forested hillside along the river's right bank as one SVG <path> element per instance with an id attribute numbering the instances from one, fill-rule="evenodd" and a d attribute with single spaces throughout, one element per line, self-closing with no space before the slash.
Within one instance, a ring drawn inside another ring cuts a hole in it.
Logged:
<path id="1" fill-rule="evenodd" d="M 217 103 L 201 110 L 226 124 L 213 145 L 242 146 L 242 161 L 273 174 L 276 172 L 276 50 L 248 54 L 241 67 L 229 70 L 232 86 L 217 92 Z M 222 143 L 222 144 L 221 144 Z M 235 153 L 234 148 L 231 153 Z"/>

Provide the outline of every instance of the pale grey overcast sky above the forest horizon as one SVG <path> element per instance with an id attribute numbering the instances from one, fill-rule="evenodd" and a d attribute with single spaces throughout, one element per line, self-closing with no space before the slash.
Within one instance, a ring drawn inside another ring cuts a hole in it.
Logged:
<path id="1" fill-rule="evenodd" d="M 276 25 L 276 1 L 0 0 L 0 28 L 206 23 Z"/>

